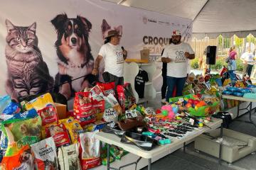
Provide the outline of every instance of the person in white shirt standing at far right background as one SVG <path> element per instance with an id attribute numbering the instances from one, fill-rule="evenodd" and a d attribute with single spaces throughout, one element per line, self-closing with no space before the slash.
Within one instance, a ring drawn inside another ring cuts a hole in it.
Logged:
<path id="1" fill-rule="evenodd" d="M 240 60 L 242 60 L 242 68 L 243 68 L 243 74 L 242 77 L 248 76 L 252 74 L 252 67 L 255 63 L 254 56 L 251 52 L 250 47 L 247 47 L 246 52 L 242 54 L 240 57 Z"/>

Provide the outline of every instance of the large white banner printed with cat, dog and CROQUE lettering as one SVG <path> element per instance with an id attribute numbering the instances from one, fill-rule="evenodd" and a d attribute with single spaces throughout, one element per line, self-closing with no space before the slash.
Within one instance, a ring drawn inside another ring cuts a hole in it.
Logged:
<path id="1" fill-rule="evenodd" d="M 174 29 L 181 30 L 183 40 L 191 38 L 191 20 L 100 0 L 2 1 L 0 95 L 17 99 L 56 91 L 69 99 L 90 86 L 86 75 L 108 31 L 122 35 L 128 58 L 139 58 L 148 48 L 154 62 Z M 160 63 L 154 86 L 160 91 Z"/>

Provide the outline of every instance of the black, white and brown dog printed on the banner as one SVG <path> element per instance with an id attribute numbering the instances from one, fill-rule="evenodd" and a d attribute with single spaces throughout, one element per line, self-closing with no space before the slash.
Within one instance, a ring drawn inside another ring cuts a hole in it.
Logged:
<path id="1" fill-rule="evenodd" d="M 68 99 L 74 95 L 75 91 L 81 91 L 90 86 L 86 75 L 92 73 L 94 64 L 88 42 L 92 23 L 82 16 L 68 18 L 65 13 L 53 18 L 51 23 L 58 34 L 55 42 L 58 55 L 55 91 Z M 78 77 L 82 78 L 76 79 Z M 76 80 L 71 81 L 73 79 Z"/>

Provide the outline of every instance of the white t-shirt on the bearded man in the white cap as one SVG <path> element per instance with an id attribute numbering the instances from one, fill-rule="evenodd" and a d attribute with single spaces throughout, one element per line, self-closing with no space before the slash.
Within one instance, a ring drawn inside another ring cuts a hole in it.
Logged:
<path id="1" fill-rule="evenodd" d="M 185 52 L 194 54 L 188 43 L 181 42 L 178 45 L 168 45 L 164 49 L 162 57 L 171 58 L 171 62 L 167 63 L 167 76 L 182 78 L 188 74 L 188 59 L 184 56 Z"/>

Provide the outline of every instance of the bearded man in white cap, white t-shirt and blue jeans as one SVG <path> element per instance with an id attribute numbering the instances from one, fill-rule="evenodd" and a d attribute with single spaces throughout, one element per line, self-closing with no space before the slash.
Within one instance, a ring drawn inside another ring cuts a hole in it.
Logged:
<path id="1" fill-rule="evenodd" d="M 188 60 L 195 58 L 191 46 L 186 42 L 181 42 L 179 30 L 172 32 L 171 39 L 173 43 L 165 47 L 161 57 L 161 61 L 167 63 L 167 101 L 172 97 L 175 86 L 176 96 L 182 96 L 188 74 Z"/>

